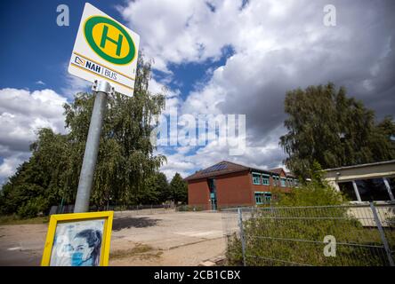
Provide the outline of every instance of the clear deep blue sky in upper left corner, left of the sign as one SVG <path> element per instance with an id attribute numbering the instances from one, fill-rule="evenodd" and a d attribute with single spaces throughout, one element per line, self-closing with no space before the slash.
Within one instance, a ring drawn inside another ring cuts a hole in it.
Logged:
<path id="1" fill-rule="evenodd" d="M 83 1 L 67 4 L 70 26 L 60 28 L 56 25 L 56 1 L 1 3 L 0 31 L 7 38 L 0 54 L 2 88 L 35 89 L 36 82 L 42 80 L 47 87 L 60 91 L 64 64 L 69 60 L 81 17 L 77 11 L 84 7 Z"/>

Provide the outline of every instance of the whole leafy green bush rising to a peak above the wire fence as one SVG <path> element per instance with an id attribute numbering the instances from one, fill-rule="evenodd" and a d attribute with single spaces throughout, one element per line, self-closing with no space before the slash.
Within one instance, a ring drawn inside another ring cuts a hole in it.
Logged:
<path id="1" fill-rule="evenodd" d="M 341 206 L 342 193 L 321 181 L 319 172 L 292 193 L 276 194 L 276 206 L 243 212 L 246 264 L 386 264 L 383 248 L 377 247 L 382 246 L 378 231 L 361 225 L 348 207 Z M 327 235 L 335 236 L 336 257 L 324 255 Z M 226 255 L 230 265 L 243 264 L 238 233 L 228 237 Z"/>

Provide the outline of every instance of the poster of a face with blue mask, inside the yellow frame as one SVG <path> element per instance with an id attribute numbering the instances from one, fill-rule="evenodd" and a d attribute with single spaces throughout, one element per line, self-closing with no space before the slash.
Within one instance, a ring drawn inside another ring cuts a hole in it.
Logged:
<path id="1" fill-rule="evenodd" d="M 51 266 L 99 266 L 105 220 L 58 223 Z"/>

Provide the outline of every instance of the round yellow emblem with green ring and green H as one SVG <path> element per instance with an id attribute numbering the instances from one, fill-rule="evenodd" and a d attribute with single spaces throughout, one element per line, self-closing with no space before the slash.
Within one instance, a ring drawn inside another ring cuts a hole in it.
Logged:
<path id="1" fill-rule="evenodd" d="M 116 21 L 102 16 L 85 20 L 86 42 L 102 59 L 113 64 L 130 63 L 136 54 L 132 37 Z"/>

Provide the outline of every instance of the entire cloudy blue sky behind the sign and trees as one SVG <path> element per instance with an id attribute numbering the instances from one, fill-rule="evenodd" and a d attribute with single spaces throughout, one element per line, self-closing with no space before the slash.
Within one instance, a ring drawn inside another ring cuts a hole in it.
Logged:
<path id="1" fill-rule="evenodd" d="M 69 27 L 56 25 L 68 4 Z M 67 74 L 84 1 L 0 4 L 0 183 L 28 159 L 40 127 L 65 132 L 62 104 L 90 83 Z M 334 82 L 373 108 L 377 119 L 395 113 L 395 2 L 393 0 L 135 0 L 91 1 L 141 36 L 154 59 L 150 90 L 163 86 L 166 111 L 246 114 L 246 152 L 229 147 L 159 147 L 167 177 L 187 176 L 229 160 L 271 168 L 285 154 L 286 91 Z M 335 7 L 326 26 L 324 7 Z"/>

